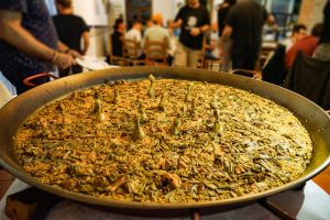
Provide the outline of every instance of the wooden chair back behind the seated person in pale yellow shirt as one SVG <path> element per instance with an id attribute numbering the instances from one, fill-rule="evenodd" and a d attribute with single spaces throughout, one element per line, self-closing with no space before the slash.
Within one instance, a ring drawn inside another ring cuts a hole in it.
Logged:
<path id="1" fill-rule="evenodd" d="M 144 42 L 144 54 L 146 65 L 167 66 L 167 42 L 150 41 L 147 37 Z"/>

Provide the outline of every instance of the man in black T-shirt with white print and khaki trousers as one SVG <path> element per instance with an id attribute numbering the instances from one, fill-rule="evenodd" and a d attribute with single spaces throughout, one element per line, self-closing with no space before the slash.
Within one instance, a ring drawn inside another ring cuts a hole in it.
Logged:
<path id="1" fill-rule="evenodd" d="M 188 0 L 172 23 L 180 28 L 179 45 L 175 54 L 175 66 L 196 67 L 202 50 L 204 33 L 210 28 L 210 14 L 199 0 Z"/>

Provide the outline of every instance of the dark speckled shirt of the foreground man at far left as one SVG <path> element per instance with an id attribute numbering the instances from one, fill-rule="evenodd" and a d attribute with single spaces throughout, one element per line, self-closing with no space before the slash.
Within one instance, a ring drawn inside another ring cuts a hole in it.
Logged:
<path id="1" fill-rule="evenodd" d="M 0 10 L 22 12 L 21 25 L 40 42 L 57 47 L 57 34 L 44 0 L 1 0 Z M 0 69 L 16 87 L 28 76 L 53 72 L 51 62 L 25 54 L 2 40 L 0 52 Z"/>

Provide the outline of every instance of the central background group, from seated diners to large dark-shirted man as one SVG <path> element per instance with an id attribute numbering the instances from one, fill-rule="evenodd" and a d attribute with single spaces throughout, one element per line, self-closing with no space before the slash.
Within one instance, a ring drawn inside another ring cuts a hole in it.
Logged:
<path id="1" fill-rule="evenodd" d="M 157 18 L 160 14 L 154 16 Z M 170 34 L 163 28 L 163 21 L 155 20 L 154 16 L 155 26 L 147 28 L 144 37 L 151 35 L 155 41 L 164 37 L 164 41 L 170 42 Z M 112 35 L 112 54 L 117 56 L 122 55 L 122 47 L 119 46 L 119 43 L 125 38 L 134 38 L 143 45 L 141 22 L 135 21 L 133 28 L 127 33 L 122 28 L 124 25 L 123 20 L 120 20 L 120 22 L 121 25 L 116 22 L 116 32 Z M 274 24 L 274 16 L 263 6 L 253 0 L 238 3 L 235 0 L 226 0 L 218 11 L 218 26 L 211 24 L 210 13 L 199 0 L 188 0 L 188 3 L 179 9 L 174 21 L 167 22 L 167 29 L 178 29 L 180 33 L 173 54 L 173 65 L 196 67 L 201 52 L 206 50 L 207 57 L 219 58 L 219 54 L 222 56 L 222 70 L 229 70 L 230 61 L 232 61 L 232 68 L 254 69 L 265 22 Z M 218 36 L 215 35 L 217 30 Z M 119 32 L 121 32 L 120 35 Z M 220 41 L 220 48 L 218 47 L 218 41 Z M 173 46 L 168 43 L 168 50 L 170 47 Z M 220 51 L 220 53 L 215 55 L 212 53 L 215 50 Z M 140 51 L 140 56 L 143 56 L 143 51 Z"/>

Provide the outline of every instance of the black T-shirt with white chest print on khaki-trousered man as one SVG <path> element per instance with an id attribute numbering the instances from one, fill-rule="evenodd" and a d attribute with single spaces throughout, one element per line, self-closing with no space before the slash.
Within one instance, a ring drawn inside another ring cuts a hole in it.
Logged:
<path id="1" fill-rule="evenodd" d="M 179 19 L 183 20 L 179 36 L 180 43 L 193 50 L 201 50 L 204 35 L 199 34 L 193 36 L 190 30 L 193 28 L 201 28 L 206 24 L 210 24 L 209 11 L 201 4 L 196 9 L 185 6 L 179 10 L 175 21 L 178 21 Z"/>

